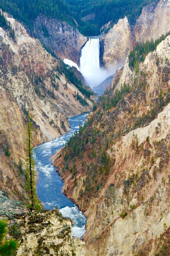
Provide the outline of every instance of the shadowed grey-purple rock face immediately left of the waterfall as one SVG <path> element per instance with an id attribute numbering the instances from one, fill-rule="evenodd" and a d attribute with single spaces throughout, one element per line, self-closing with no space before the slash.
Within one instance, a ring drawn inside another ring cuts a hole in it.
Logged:
<path id="1" fill-rule="evenodd" d="M 81 47 L 87 38 L 66 22 L 38 16 L 34 22 L 36 37 L 61 59 L 71 59 L 79 64 Z"/>

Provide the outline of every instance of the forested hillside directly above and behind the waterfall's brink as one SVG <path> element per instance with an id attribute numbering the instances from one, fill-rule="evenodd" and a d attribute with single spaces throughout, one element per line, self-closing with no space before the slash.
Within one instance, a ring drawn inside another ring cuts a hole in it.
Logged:
<path id="1" fill-rule="evenodd" d="M 142 8 L 155 2 L 157 0 L 67 0 L 80 25 L 80 32 L 85 35 L 99 35 L 100 28 L 105 23 L 112 21 L 113 26 L 125 16 L 133 25 Z M 94 14 L 91 20 L 83 22 L 82 18 L 89 14 Z"/>

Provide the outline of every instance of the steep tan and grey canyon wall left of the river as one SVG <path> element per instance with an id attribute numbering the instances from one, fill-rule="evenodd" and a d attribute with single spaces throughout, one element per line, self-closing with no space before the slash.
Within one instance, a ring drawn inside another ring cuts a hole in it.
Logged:
<path id="1" fill-rule="evenodd" d="M 62 63 L 30 37 L 21 23 L 5 15 L 14 36 L 0 27 L 0 188 L 20 198 L 24 183 L 16 164 L 24 159 L 28 111 L 34 122 L 34 145 L 38 145 L 68 131 L 67 117 L 89 111 L 93 104 L 89 99 L 84 105 L 77 100 L 77 93 L 82 99 L 85 96 L 64 75 L 67 68 L 62 69 Z M 82 84 L 81 88 L 90 90 Z M 8 147 L 10 157 L 5 156 Z"/>

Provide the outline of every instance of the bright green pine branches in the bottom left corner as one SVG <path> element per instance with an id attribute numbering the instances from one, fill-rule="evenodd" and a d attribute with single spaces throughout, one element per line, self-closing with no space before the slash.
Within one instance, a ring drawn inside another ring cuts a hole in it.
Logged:
<path id="1" fill-rule="evenodd" d="M 0 256 L 11 256 L 18 248 L 18 242 L 15 239 L 5 239 L 7 232 L 6 220 L 0 220 Z"/>

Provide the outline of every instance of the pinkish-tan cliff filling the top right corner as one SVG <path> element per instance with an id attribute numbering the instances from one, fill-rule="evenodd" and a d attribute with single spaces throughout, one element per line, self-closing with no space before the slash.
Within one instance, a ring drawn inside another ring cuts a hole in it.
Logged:
<path id="1" fill-rule="evenodd" d="M 143 8 L 134 27 L 136 41 L 154 41 L 170 30 L 170 1 L 160 0 Z"/>

